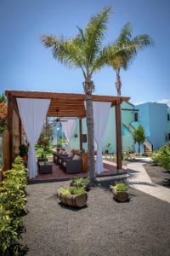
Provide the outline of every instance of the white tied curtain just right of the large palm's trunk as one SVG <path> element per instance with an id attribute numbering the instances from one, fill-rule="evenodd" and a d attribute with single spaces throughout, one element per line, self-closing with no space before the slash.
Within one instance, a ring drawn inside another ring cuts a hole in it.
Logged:
<path id="1" fill-rule="evenodd" d="M 111 102 L 93 102 L 94 108 L 94 139 L 97 144 L 97 160 L 95 172 L 100 174 L 103 172 L 102 159 L 102 140 L 105 133 L 105 127 L 109 119 Z"/>

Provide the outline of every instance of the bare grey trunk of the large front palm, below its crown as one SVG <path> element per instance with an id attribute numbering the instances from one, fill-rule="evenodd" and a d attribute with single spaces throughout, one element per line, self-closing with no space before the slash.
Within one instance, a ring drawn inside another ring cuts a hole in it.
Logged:
<path id="1" fill-rule="evenodd" d="M 88 128 L 88 173 L 91 183 L 96 180 L 94 164 L 94 112 L 92 95 L 87 95 L 86 118 Z"/>

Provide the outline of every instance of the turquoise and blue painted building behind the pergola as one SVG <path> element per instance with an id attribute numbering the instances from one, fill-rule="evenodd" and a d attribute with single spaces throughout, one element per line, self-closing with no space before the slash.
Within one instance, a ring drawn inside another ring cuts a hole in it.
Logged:
<path id="1" fill-rule="evenodd" d="M 148 102 L 134 106 L 129 102 L 122 103 L 122 149 L 128 150 L 135 147 L 133 142 L 133 130 L 141 124 L 144 127 L 145 142 L 141 147 L 144 153 L 146 150 L 156 150 L 170 141 L 170 108 L 166 104 Z M 58 126 L 59 128 L 59 126 Z M 61 128 L 59 128 L 61 129 Z M 61 131 L 58 131 L 62 134 Z M 88 149 L 86 142 L 87 125 L 86 119 L 82 119 L 82 148 Z M 64 134 L 62 134 L 64 137 Z M 79 148 L 79 121 L 77 119 L 73 135 L 71 137 L 71 148 Z M 116 152 L 116 119 L 115 108 L 111 108 L 108 124 L 105 129 L 103 140 L 103 152 L 107 144 L 111 143 L 110 153 Z M 96 145 L 95 145 L 96 148 Z M 136 149 L 135 149 L 136 148 Z"/>

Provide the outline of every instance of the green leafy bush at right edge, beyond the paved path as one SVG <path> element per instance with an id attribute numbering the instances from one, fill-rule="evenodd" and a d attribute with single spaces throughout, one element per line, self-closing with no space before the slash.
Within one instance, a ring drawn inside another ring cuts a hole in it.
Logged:
<path id="1" fill-rule="evenodd" d="M 161 147 L 152 157 L 152 162 L 170 171 L 170 143 Z"/>

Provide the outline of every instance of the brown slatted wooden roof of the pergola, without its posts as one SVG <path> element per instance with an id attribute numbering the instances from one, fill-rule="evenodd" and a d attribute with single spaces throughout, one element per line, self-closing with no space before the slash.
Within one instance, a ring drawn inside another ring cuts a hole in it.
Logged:
<path id="1" fill-rule="evenodd" d="M 57 93 L 45 91 L 25 91 L 25 90 L 6 90 L 6 96 L 11 96 L 16 105 L 16 98 L 38 98 L 50 99 L 50 106 L 48 108 L 48 116 L 57 116 L 59 110 L 59 117 L 85 117 L 84 101 L 87 96 L 85 94 L 74 93 Z M 123 96 L 98 96 L 93 95 L 93 101 L 111 102 L 116 105 L 120 102 L 128 102 L 129 97 Z M 17 108 L 17 106 L 15 106 Z"/>

